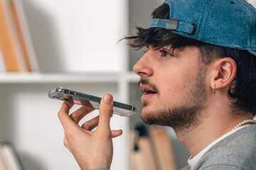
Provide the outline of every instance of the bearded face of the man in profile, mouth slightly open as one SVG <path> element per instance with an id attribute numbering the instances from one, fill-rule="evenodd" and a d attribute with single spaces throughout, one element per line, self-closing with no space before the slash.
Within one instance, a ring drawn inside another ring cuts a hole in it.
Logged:
<path id="1" fill-rule="evenodd" d="M 143 91 L 142 120 L 147 124 L 188 128 L 206 103 L 206 66 L 196 47 L 149 50 L 134 64 Z"/>

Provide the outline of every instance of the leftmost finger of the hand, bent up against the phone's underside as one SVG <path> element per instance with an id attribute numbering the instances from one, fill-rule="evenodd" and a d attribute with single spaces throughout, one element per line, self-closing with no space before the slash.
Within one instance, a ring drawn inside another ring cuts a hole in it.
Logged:
<path id="1" fill-rule="evenodd" d="M 60 119 L 60 123 L 63 125 L 63 128 L 65 129 L 69 125 L 73 125 L 74 121 L 70 118 L 68 115 L 70 108 L 72 108 L 74 104 L 69 103 L 68 101 L 64 101 L 63 105 L 60 108 L 60 111 L 58 112 L 58 118 Z"/>

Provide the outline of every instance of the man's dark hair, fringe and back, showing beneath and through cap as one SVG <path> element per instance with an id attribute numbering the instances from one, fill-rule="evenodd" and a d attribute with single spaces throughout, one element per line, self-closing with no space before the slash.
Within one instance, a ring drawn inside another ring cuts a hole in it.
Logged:
<path id="1" fill-rule="evenodd" d="M 169 5 L 162 4 L 152 13 L 152 18 L 169 18 Z M 154 47 L 159 49 L 171 45 L 172 49 L 186 46 L 198 47 L 201 52 L 200 60 L 204 64 L 210 64 L 222 57 L 230 57 L 237 64 L 237 72 L 233 79 L 234 87 L 228 90 L 231 107 L 239 112 L 250 112 L 255 115 L 256 111 L 256 56 L 247 50 L 237 50 L 229 47 L 210 45 L 206 42 L 186 38 L 164 28 L 139 28 L 137 35 L 124 38 L 128 45 L 139 50 L 142 47 Z"/>

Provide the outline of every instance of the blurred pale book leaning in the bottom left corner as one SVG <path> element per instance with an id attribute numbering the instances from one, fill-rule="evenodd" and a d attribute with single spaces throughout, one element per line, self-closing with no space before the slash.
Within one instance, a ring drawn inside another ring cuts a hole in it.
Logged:
<path id="1" fill-rule="evenodd" d="M 0 170 L 24 170 L 11 142 L 6 141 L 0 144 Z"/>

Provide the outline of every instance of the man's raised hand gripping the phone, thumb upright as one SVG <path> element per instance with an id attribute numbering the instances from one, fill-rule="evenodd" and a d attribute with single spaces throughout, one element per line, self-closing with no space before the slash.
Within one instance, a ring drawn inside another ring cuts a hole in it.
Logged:
<path id="1" fill-rule="evenodd" d="M 99 116 L 85 122 L 81 127 L 78 122 L 90 109 L 81 107 L 69 115 L 73 103 L 65 101 L 58 117 L 63 125 L 64 145 L 75 157 L 80 169 L 108 168 L 112 162 L 112 137 L 122 135 L 122 130 L 110 130 L 110 118 L 113 110 L 113 98 L 105 95 L 100 102 Z M 95 131 L 91 131 L 96 128 Z"/>

